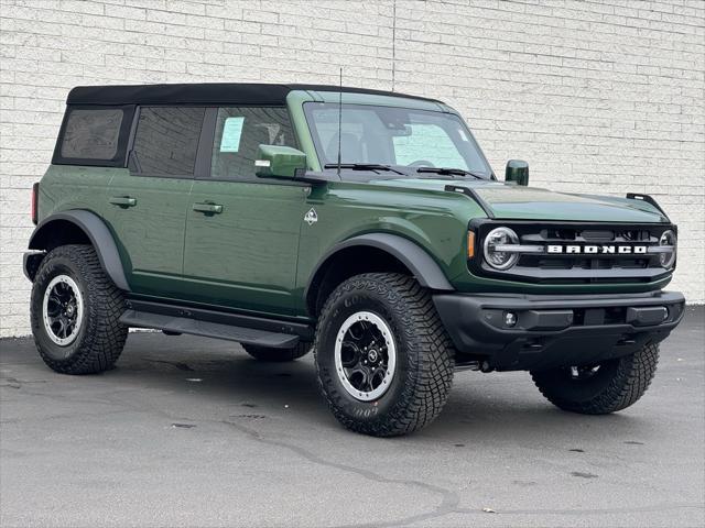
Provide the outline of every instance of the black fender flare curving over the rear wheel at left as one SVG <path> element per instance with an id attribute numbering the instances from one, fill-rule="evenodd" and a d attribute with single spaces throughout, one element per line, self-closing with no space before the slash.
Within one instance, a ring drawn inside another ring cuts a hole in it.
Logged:
<path id="1" fill-rule="evenodd" d="M 119 289 L 126 292 L 130 290 L 130 286 L 128 285 L 128 280 L 124 275 L 124 270 L 122 268 L 120 253 L 118 252 L 118 246 L 115 243 L 112 233 L 100 217 L 94 212 L 83 209 L 72 209 L 51 215 L 42 220 L 34 229 L 32 237 L 30 237 L 29 249 L 35 251 L 32 253 L 25 253 L 24 255 L 24 274 L 30 279 L 33 278 L 33 271 L 34 273 L 36 272 L 36 264 L 33 264 L 31 262 L 32 257 L 44 257 L 43 254 L 37 254 L 36 250 L 45 250 L 45 241 L 50 233 L 48 224 L 57 220 L 70 222 L 86 233 L 86 237 L 88 237 L 88 240 L 90 240 L 90 243 L 98 254 L 100 266 L 106 274 L 112 279 Z"/>

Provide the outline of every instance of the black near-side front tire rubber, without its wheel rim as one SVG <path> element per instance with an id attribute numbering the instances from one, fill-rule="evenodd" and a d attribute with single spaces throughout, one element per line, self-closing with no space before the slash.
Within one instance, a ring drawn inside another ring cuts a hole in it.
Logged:
<path id="1" fill-rule="evenodd" d="M 334 345 L 343 320 L 369 310 L 389 324 L 397 345 L 397 367 L 378 399 L 354 398 L 336 375 Z M 406 275 L 356 275 L 330 294 L 321 312 L 314 342 L 318 383 L 335 417 L 346 428 L 376 437 L 416 431 L 433 421 L 446 403 L 454 371 L 454 349 L 431 295 Z"/>

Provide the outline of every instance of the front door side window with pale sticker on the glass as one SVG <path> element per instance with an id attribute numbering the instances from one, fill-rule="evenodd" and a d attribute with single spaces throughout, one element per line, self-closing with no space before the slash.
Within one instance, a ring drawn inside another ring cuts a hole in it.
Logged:
<path id="1" fill-rule="evenodd" d="M 260 144 L 296 146 L 285 108 L 219 108 L 210 177 L 254 179 L 254 160 Z"/>

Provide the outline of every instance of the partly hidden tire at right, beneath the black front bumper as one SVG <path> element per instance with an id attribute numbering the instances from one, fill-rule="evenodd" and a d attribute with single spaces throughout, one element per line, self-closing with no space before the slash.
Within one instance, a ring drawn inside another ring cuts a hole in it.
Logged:
<path id="1" fill-rule="evenodd" d="M 647 392 L 658 362 L 659 345 L 648 343 L 633 354 L 604 362 L 595 376 L 586 380 L 571 378 L 566 369 L 532 372 L 531 376 L 556 407 L 582 415 L 606 415 L 629 407 Z"/>

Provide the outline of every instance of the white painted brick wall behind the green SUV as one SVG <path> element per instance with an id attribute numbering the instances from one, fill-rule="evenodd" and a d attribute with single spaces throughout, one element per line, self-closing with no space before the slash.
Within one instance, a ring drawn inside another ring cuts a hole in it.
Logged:
<path id="1" fill-rule="evenodd" d="M 29 331 L 29 195 L 69 88 L 345 82 L 432 96 L 498 174 L 654 195 L 680 226 L 674 289 L 705 300 L 705 2 L 0 0 L 0 337 Z M 397 40 L 392 52 L 395 12 Z"/>

